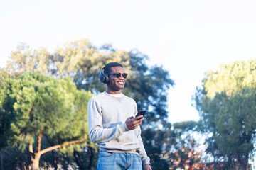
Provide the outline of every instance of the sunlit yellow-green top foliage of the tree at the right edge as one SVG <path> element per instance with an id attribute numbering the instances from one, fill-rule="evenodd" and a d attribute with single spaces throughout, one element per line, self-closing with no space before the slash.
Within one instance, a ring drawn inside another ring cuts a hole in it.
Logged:
<path id="1" fill-rule="evenodd" d="M 207 72 L 206 79 L 203 80 L 203 86 L 210 98 L 222 91 L 225 91 L 228 96 L 233 96 L 244 88 L 255 88 L 255 85 L 255 60 L 220 65 L 218 71 Z"/>

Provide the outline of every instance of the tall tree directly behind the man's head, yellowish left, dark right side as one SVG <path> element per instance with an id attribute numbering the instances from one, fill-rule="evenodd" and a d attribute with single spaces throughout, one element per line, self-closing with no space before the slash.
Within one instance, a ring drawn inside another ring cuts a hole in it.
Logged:
<path id="1" fill-rule="evenodd" d="M 21 44 L 11 52 L 10 59 L 5 70 L 12 77 L 26 72 L 53 75 L 58 79 L 68 76 L 78 89 L 91 91 L 92 94 L 106 89 L 105 84 L 101 84 L 99 80 L 102 67 L 108 62 L 120 62 L 129 74 L 126 88 L 122 92 L 137 101 L 139 110 L 148 111 L 144 125 L 156 127 L 167 118 L 167 91 L 174 85 L 174 81 L 163 67 L 149 67 L 146 64 L 149 57 L 138 50 L 115 50 L 111 45 L 97 48 L 88 40 L 75 40 L 67 42 L 64 47 L 58 47 L 54 54 L 44 48 L 32 50 Z"/>

